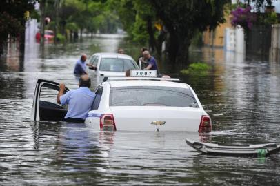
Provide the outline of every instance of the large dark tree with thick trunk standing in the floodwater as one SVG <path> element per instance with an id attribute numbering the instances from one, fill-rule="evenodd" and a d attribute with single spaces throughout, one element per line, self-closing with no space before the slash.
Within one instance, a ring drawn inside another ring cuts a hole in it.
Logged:
<path id="1" fill-rule="evenodd" d="M 156 11 L 168 31 L 166 52 L 172 63 L 188 63 L 188 48 L 192 37 L 206 28 L 223 23 L 226 0 L 146 0 Z"/>

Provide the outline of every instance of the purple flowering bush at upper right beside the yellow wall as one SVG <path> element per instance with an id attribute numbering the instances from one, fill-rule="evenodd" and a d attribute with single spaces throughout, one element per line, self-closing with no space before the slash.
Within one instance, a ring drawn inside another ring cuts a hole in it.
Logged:
<path id="1" fill-rule="evenodd" d="M 232 10 L 232 26 L 237 27 L 240 25 L 244 30 L 250 30 L 255 21 L 251 9 L 251 6 L 247 6 L 246 8 L 237 7 L 237 9 Z"/>

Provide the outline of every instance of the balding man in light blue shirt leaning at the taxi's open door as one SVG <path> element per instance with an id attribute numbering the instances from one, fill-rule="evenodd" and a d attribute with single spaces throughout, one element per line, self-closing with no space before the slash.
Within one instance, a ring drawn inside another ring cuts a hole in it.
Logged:
<path id="1" fill-rule="evenodd" d="M 88 112 L 92 108 L 95 94 L 90 90 L 90 77 L 82 75 L 79 79 L 79 89 L 70 90 L 64 94 L 65 85 L 59 85 L 57 94 L 57 103 L 61 105 L 68 104 L 68 111 L 65 116 L 66 121 L 84 122 Z"/>

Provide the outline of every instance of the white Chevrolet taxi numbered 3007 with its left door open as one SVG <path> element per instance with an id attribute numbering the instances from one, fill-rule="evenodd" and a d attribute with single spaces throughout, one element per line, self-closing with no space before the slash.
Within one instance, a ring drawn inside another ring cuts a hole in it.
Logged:
<path id="1" fill-rule="evenodd" d="M 94 90 L 96 97 L 85 123 L 93 130 L 211 132 L 210 116 L 192 87 L 171 80 L 109 78 Z M 42 101 L 42 87 L 59 90 L 59 83 L 38 80 L 32 119 L 63 120 L 67 110 Z"/>

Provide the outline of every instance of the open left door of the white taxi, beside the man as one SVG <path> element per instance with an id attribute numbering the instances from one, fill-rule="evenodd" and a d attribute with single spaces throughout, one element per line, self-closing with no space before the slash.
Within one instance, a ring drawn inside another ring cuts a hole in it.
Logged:
<path id="1" fill-rule="evenodd" d="M 64 93 L 68 92 L 68 88 Z M 67 110 L 57 104 L 56 95 L 59 83 L 38 79 L 32 105 L 31 118 L 33 121 L 62 121 Z"/>

